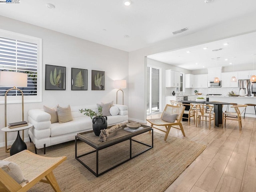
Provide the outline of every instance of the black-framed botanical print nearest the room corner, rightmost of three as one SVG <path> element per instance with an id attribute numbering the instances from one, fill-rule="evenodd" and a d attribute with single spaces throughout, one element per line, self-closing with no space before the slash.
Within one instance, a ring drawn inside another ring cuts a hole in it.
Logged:
<path id="1" fill-rule="evenodd" d="M 105 90 L 105 72 L 92 70 L 92 90 Z"/>

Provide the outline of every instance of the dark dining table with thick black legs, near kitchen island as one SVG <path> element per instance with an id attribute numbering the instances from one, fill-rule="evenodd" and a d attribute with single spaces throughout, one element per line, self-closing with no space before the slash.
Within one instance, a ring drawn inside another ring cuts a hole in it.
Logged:
<path id="1" fill-rule="evenodd" d="M 222 124 L 222 106 L 223 105 L 229 105 L 230 103 L 226 102 L 217 102 L 217 101 L 178 101 L 184 104 L 212 104 L 214 106 L 214 113 L 215 113 L 215 126 L 219 126 L 219 124 Z M 190 106 L 185 106 L 185 110 L 189 110 Z M 186 115 L 186 114 L 183 114 Z"/>

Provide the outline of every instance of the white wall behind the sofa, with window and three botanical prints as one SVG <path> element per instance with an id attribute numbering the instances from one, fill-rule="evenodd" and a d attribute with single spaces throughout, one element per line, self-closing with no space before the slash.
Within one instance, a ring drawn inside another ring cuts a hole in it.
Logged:
<path id="1" fill-rule="evenodd" d="M 99 102 L 116 102 L 114 80 L 128 81 L 128 52 L 96 44 L 59 32 L 12 20 L 0 16 L 0 28 L 20 34 L 42 38 L 42 102 L 25 103 L 25 120 L 28 121 L 28 110 L 42 108 L 43 105 L 76 106 Z M 66 66 L 66 90 L 44 90 L 45 64 Z M 88 90 L 71 91 L 71 68 L 88 69 Z M 105 90 L 91 90 L 91 70 L 105 71 Z M 124 89 L 124 104 L 128 105 L 128 88 Z M 120 104 L 121 97 L 118 98 Z M 22 119 L 21 104 L 8 104 L 7 122 Z M 0 104 L 0 128 L 4 127 L 4 104 Z M 28 138 L 27 130 L 25 138 Z M 8 141 L 15 140 L 17 132 L 8 133 Z M 27 139 L 26 139 L 27 140 Z M 0 146 L 4 146 L 4 132 L 0 131 Z"/>

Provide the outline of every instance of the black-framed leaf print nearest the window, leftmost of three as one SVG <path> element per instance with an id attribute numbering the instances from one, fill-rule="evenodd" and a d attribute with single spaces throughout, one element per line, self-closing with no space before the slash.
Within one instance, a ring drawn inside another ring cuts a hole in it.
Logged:
<path id="1" fill-rule="evenodd" d="M 45 90 L 66 90 L 66 67 L 45 65 Z"/>

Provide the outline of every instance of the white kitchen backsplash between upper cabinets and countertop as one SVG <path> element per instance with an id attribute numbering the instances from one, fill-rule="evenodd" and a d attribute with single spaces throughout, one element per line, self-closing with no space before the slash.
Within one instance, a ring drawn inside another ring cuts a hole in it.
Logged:
<path id="1" fill-rule="evenodd" d="M 209 88 L 186 88 L 185 93 L 183 95 L 194 95 L 194 90 L 197 90 L 199 93 L 203 95 L 206 94 L 222 94 L 228 95 L 229 92 L 233 91 L 234 94 L 239 94 L 239 88 L 222 88 L 222 87 L 209 87 Z M 166 96 L 172 95 L 172 92 L 176 92 L 176 88 L 167 87 L 166 88 Z"/>

